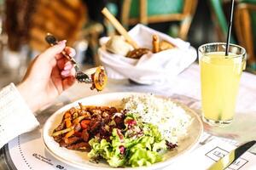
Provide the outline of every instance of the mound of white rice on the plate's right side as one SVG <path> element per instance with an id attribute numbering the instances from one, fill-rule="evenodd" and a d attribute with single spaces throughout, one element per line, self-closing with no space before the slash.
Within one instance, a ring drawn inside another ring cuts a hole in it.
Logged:
<path id="1" fill-rule="evenodd" d="M 153 94 L 125 98 L 122 107 L 140 117 L 143 122 L 158 126 L 162 136 L 172 144 L 177 144 L 178 139 L 187 134 L 192 122 L 182 107 L 170 99 L 157 98 Z"/>

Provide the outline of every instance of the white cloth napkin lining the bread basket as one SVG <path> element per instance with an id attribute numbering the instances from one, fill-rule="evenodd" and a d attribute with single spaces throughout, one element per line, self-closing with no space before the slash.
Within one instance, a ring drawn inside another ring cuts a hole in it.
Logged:
<path id="1" fill-rule="evenodd" d="M 161 51 L 157 54 L 144 54 L 141 59 L 129 59 L 125 56 L 109 53 L 104 44 L 109 37 L 102 37 L 99 56 L 102 65 L 106 68 L 108 77 L 113 79 L 131 79 L 142 84 L 166 82 L 177 76 L 196 59 L 196 50 L 189 42 L 172 38 L 147 26 L 137 25 L 129 31 L 139 47 L 152 48 L 152 36 L 157 34 L 160 40 L 172 42 L 177 48 Z"/>

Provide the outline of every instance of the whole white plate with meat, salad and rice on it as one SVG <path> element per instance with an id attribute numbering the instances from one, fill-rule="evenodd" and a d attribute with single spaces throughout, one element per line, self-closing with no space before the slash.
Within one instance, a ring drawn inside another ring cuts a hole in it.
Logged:
<path id="1" fill-rule="evenodd" d="M 154 94 L 98 94 L 56 111 L 43 139 L 56 159 L 80 169 L 159 169 L 193 150 L 203 132 L 187 106 Z"/>

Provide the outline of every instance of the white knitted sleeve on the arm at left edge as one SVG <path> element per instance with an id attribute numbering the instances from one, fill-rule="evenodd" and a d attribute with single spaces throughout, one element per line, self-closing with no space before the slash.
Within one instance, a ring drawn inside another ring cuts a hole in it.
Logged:
<path id="1" fill-rule="evenodd" d="M 0 148 L 21 133 L 32 131 L 39 122 L 14 83 L 0 91 Z"/>

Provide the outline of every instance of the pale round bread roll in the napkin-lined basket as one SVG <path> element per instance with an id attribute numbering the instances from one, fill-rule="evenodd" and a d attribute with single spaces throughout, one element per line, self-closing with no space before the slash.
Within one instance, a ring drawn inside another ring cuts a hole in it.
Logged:
<path id="1" fill-rule="evenodd" d="M 113 54 L 120 54 L 125 56 L 133 48 L 128 42 L 125 42 L 125 39 L 121 36 L 110 37 L 106 43 L 106 49 Z"/>

